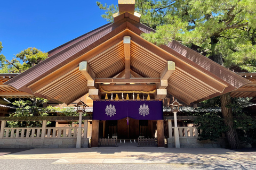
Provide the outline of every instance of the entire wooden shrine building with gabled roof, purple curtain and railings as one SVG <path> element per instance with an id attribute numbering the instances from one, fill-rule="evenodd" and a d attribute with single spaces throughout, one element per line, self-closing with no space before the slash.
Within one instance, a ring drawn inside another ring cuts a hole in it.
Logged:
<path id="1" fill-rule="evenodd" d="M 155 30 L 140 23 L 141 14 L 134 11 L 135 1 L 118 1 L 118 5 L 113 23 L 52 49 L 49 58 L 25 72 L 2 75 L 0 88 L 9 91 L 0 92 L 1 97 L 36 96 L 66 105 L 76 100 L 89 105 L 83 99 L 90 98 L 92 116 L 86 120 L 79 118 L 80 122 L 85 121 L 84 127 L 79 123 L 74 137 L 71 135 L 74 129 L 64 130 L 64 134 L 60 128 L 47 128 L 46 124 L 44 129 L 32 128 L 28 133 L 28 130 L 3 128 L 6 118 L 2 119 L 1 130 L 4 130 L 0 140 L 31 137 L 39 142 L 67 137 L 74 141 L 73 145 L 81 147 L 82 142 L 82 147 L 86 147 L 90 126 L 91 147 L 100 146 L 104 140 L 132 142 L 141 138 L 155 142 L 158 147 L 165 146 L 165 139 L 173 147 L 180 147 L 179 137 L 198 137 L 199 132 L 195 127 L 179 130 L 178 111 L 164 117 L 166 97 L 174 107 L 180 103 L 190 105 L 251 83 L 177 41 L 157 46 L 143 39 L 141 33 Z M 11 135 L 7 135 L 9 131 Z M 15 132 L 20 134 L 12 137 Z"/>

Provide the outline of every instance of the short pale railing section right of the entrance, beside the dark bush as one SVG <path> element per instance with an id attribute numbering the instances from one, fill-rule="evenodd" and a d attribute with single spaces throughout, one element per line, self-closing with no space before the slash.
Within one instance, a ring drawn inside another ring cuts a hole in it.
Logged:
<path id="1" fill-rule="evenodd" d="M 179 130 L 179 137 L 198 137 L 198 135 L 201 133 L 198 132 L 196 127 L 178 127 Z M 172 127 L 172 133 L 171 137 L 174 137 L 174 127 Z"/>

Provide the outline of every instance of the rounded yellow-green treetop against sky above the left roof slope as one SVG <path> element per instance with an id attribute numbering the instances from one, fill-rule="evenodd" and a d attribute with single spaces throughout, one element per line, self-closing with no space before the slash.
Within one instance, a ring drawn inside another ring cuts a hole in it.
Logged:
<path id="1" fill-rule="evenodd" d="M 47 53 L 42 52 L 35 47 L 27 48 L 16 55 L 11 61 L 6 60 L 9 65 L 9 70 L 12 73 L 21 73 L 28 70 L 30 67 L 38 64 L 39 62 L 45 60 L 48 57 Z M 23 62 L 20 63 L 20 60 Z"/>

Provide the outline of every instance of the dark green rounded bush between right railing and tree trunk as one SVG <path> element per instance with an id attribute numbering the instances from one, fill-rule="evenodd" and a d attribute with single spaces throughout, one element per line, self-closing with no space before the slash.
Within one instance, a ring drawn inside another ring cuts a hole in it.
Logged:
<path id="1" fill-rule="evenodd" d="M 210 139 L 211 141 L 216 141 L 221 136 L 221 132 L 227 131 L 227 126 L 223 124 L 223 119 L 216 113 L 205 113 L 199 116 L 194 121 L 194 124 L 198 130 L 202 130 L 198 140 Z"/>

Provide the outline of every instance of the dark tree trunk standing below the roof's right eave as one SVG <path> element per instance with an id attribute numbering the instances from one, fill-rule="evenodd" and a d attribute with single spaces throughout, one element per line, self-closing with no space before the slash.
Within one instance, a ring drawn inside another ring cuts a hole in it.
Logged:
<path id="1" fill-rule="evenodd" d="M 228 131 L 226 132 L 228 143 L 232 149 L 238 149 L 239 139 L 238 139 L 236 129 L 234 128 L 234 118 L 232 114 L 232 108 L 227 107 L 229 104 L 231 104 L 230 93 L 221 95 L 220 101 L 221 101 L 221 112 L 222 112 L 223 121 L 228 127 Z"/>

